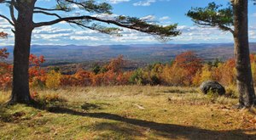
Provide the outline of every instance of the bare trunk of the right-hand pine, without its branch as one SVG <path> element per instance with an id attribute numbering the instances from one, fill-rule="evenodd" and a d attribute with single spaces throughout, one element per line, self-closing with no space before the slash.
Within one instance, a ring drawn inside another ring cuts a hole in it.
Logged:
<path id="1" fill-rule="evenodd" d="M 253 76 L 249 57 L 247 0 L 233 0 L 234 39 L 239 106 L 251 107 L 255 103 Z"/>

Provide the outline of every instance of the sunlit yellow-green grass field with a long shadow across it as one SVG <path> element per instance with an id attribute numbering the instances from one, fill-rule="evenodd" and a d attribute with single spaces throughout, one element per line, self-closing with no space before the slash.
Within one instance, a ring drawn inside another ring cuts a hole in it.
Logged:
<path id="1" fill-rule="evenodd" d="M 44 104 L 2 105 L 1 139 L 256 139 L 253 109 L 190 87 L 66 87 Z M 0 92 L 3 104 L 9 92 Z M 55 98 L 55 99 L 51 99 Z"/>

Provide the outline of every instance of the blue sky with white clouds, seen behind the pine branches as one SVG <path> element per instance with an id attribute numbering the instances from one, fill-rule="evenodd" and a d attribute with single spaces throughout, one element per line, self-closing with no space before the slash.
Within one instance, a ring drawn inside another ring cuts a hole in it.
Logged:
<path id="1" fill-rule="evenodd" d="M 104 1 L 104 0 L 101 0 Z M 108 0 L 113 6 L 113 14 L 129 15 L 152 20 L 160 25 L 178 23 L 178 29 L 183 31 L 182 36 L 173 37 L 167 43 L 211 43 L 233 42 L 230 32 L 218 31 L 216 28 L 201 28 L 185 16 L 191 7 L 205 7 L 213 0 Z M 226 5 L 229 0 L 215 0 L 215 3 Z M 38 6 L 51 8 L 55 0 L 38 0 Z M 256 10 L 253 3 L 249 3 L 249 38 L 250 42 L 256 42 Z M 76 13 L 79 13 L 78 11 Z M 75 14 L 76 14 L 75 13 Z M 0 14 L 9 15 L 9 9 L 1 4 Z M 74 14 L 74 13 L 73 13 Z M 82 13 L 88 14 L 88 13 Z M 65 15 L 65 14 L 63 14 Z M 53 20 L 52 17 L 36 14 L 34 21 Z M 7 40 L 2 40 L 0 45 L 14 44 L 14 35 L 11 33 L 11 25 L 0 19 L 0 31 L 9 33 Z M 82 30 L 66 23 L 44 26 L 35 29 L 32 34 L 32 44 L 48 45 L 111 45 L 111 44 L 152 44 L 160 43 L 154 36 L 124 29 L 123 36 L 109 36 L 96 31 Z"/>

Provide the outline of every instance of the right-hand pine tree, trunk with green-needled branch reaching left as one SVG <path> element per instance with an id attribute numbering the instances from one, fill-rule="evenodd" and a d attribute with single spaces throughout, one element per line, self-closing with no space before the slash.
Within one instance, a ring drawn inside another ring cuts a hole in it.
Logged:
<path id="1" fill-rule="evenodd" d="M 206 8 L 192 8 L 187 15 L 196 25 L 218 27 L 222 31 L 232 33 L 234 36 L 239 107 L 249 108 L 253 106 L 256 98 L 249 58 L 248 1 L 231 0 L 228 8 L 209 3 Z"/>

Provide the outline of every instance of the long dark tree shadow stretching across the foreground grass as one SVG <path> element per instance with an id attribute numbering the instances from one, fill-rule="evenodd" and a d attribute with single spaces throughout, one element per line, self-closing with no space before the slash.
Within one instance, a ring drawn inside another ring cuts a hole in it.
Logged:
<path id="1" fill-rule="evenodd" d="M 148 120 L 137 120 L 131 118 L 125 118 L 120 115 L 114 115 L 109 113 L 84 113 L 75 111 L 73 109 L 66 109 L 61 107 L 51 107 L 48 109 L 51 113 L 56 114 L 68 114 L 68 115 L 79 115 L 84 117 L 92 117 L 97 119 L 106 119 L 106 120 L 117 120 L 120 122 L 125 122 L 134 126 L 140 126 L 148 128 L 151 131 L 154 131 L 154 134 L 160 137 L 166 138 L 186 138 L 186 139 L 256 139 L 255 135 L 250 135 L 244 133 L 244 130 L 232 130 L 232 131 L 212 131 L 197 128 L 194 126 L 179 126 L 172 124 L 157 123 L 154 121 Z M 111 126 L 110 126 L 111 127 Z M 113 130 L 119 131 L 115 126 L 112 126 Z M 137 130 L 134 130 L 137 131 Z M 251 132 L 256 131 L 251 130 Z M 132 133 L 131 133 L 132 134 Z"/>

